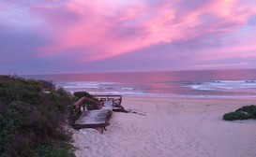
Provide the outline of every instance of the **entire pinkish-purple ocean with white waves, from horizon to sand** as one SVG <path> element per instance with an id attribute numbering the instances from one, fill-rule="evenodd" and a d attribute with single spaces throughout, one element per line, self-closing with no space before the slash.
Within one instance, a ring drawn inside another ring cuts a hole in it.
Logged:
<path id="1" fill-rule="evenodd" d="M 30 75 L 70 93 L 173 98 L 256 98 L 256 69 Z"/>

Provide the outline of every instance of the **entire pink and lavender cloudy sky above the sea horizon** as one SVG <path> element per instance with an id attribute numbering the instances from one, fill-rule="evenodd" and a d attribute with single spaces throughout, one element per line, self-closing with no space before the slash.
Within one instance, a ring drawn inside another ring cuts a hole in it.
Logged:
<path id="1" fill-rule="evenodd" d="M 255 0 L 0 1 L 0 74 L 246 68 Z"/>

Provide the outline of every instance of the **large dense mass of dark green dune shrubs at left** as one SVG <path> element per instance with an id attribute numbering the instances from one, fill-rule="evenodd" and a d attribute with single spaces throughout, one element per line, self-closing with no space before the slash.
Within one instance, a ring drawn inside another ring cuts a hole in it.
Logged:
<path id="1" fill-rule="evenodd" d="M 0 76 L 0 156 L 75 156 L 65 129 L 72 99 L 51 82 Z"/>

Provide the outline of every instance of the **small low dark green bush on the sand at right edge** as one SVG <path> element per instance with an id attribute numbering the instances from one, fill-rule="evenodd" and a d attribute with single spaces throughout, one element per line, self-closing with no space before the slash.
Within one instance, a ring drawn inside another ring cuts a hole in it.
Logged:
<path id="1" fill-rule="evenodd" d="M 256 119 L 256 106 L 250 105 L 245 107 L 240 107 L 233 112 L 224 114 L 223 120 L 235 121 L 235 120 L 248 120 Z"/>

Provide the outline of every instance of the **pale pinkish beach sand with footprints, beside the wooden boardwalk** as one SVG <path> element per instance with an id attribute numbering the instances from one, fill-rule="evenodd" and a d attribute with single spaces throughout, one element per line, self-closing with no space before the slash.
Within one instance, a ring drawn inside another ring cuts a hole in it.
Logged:
<path id="1" fill-rule="evenodd" d="M 78 157 L 255 157 L 256 121 L 223 121 L 252 100 L 123 97 L 102 135 L 73 130 Z M 145 114 L 146 116 L 143 116 Z"/>

